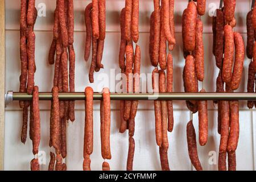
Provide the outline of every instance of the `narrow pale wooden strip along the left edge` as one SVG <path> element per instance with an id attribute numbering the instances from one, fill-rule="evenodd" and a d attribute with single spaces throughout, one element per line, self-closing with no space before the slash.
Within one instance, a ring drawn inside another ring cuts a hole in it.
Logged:
<path id="1" fill-rule="evenodd" d="M 0 1 L 0 97 L 5 98 L 5 1 Z M 0 171 L 3 170 L 5 100 L 0 100 Z"/>

